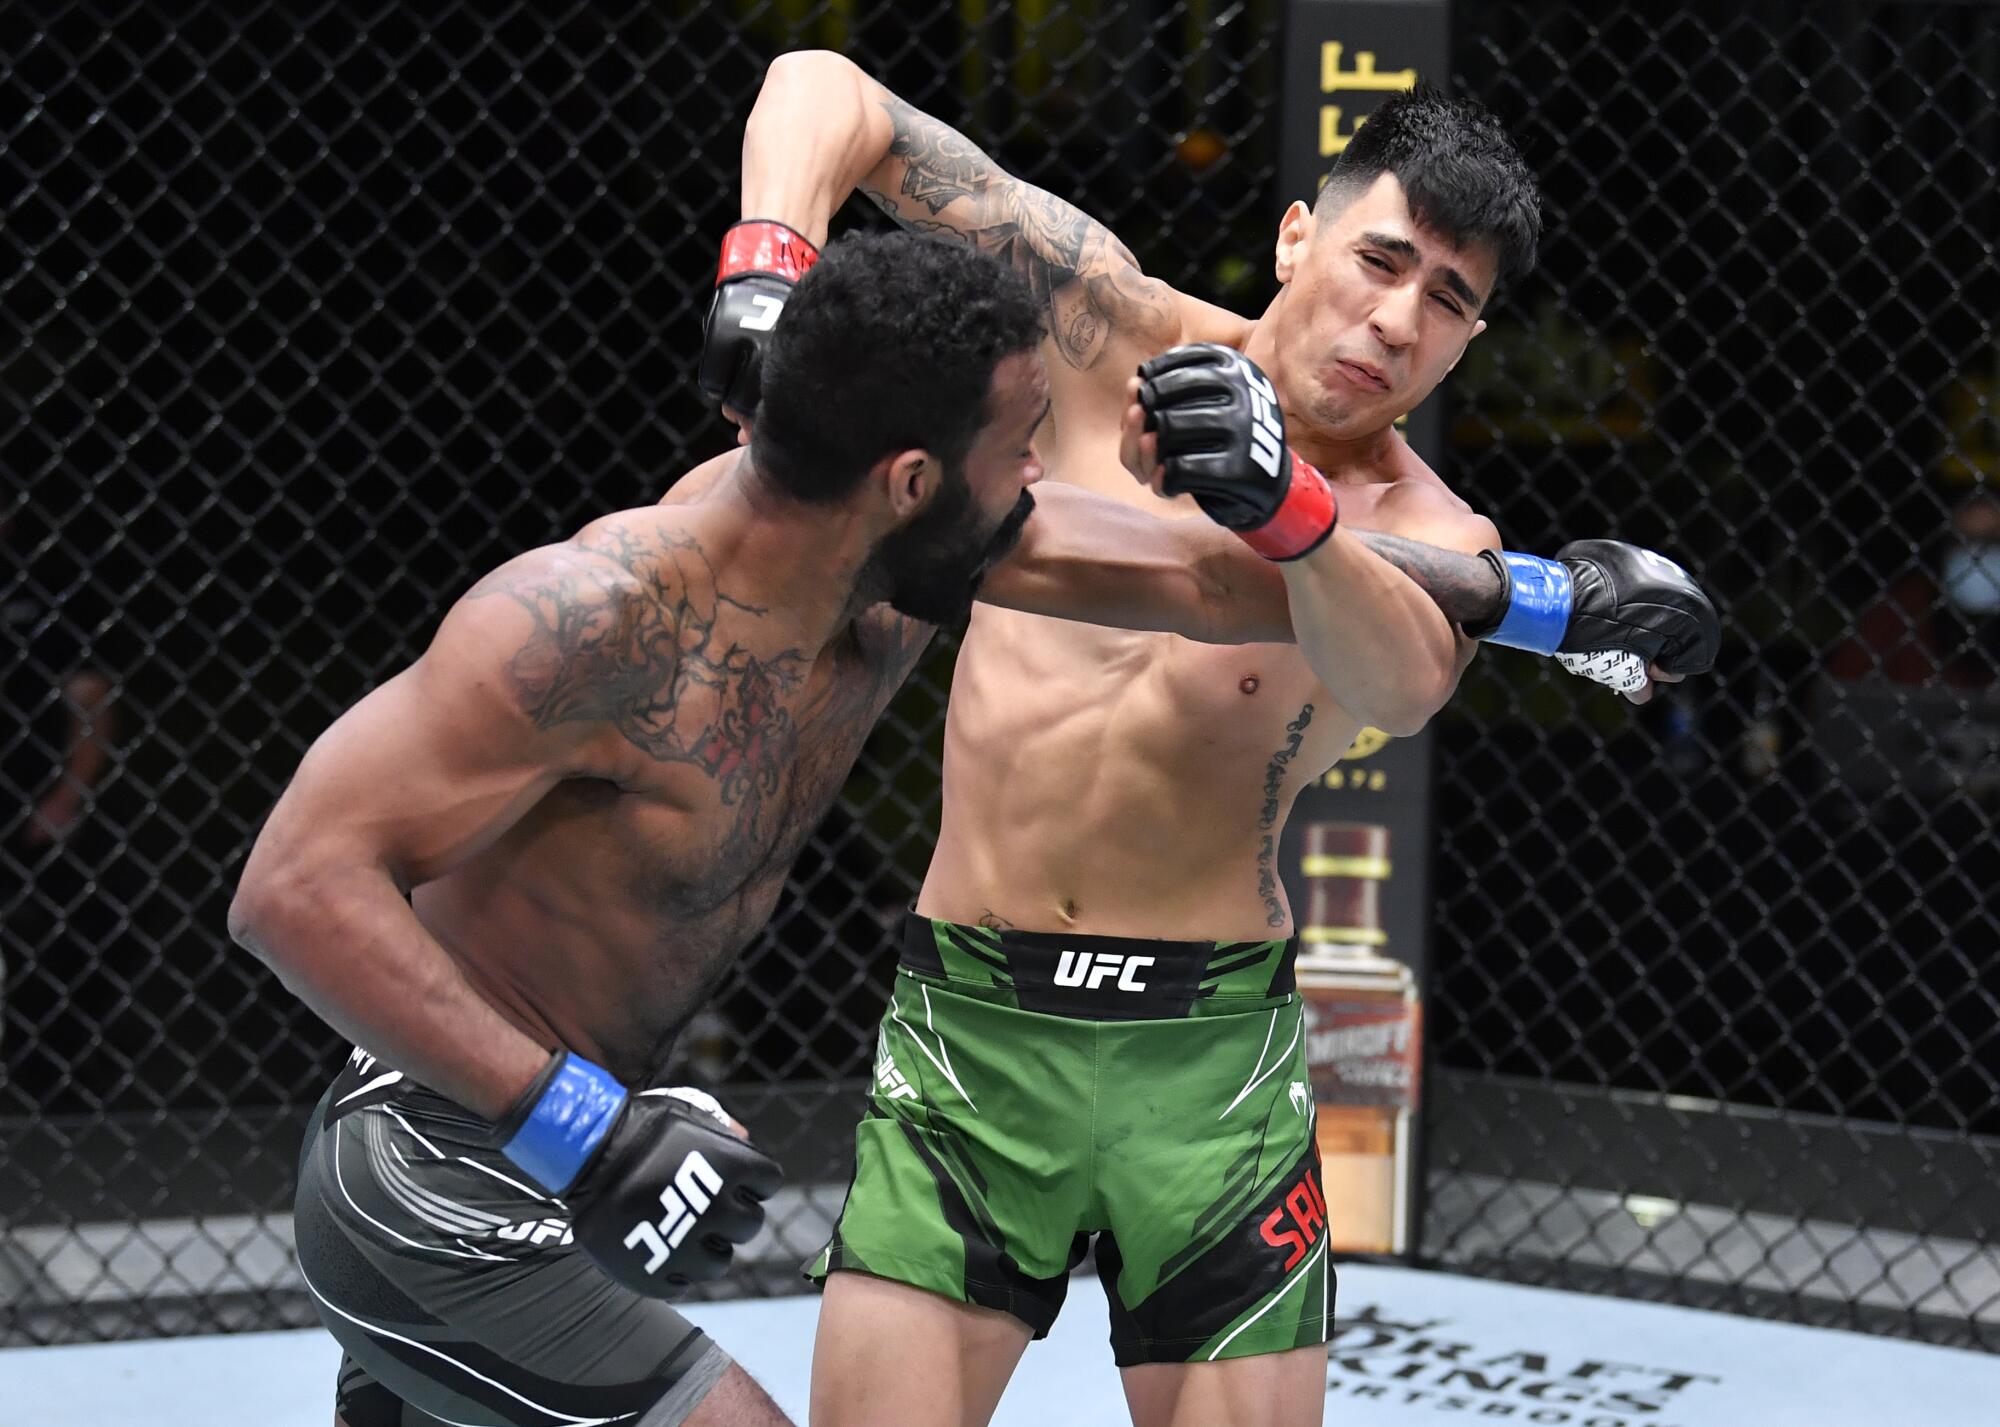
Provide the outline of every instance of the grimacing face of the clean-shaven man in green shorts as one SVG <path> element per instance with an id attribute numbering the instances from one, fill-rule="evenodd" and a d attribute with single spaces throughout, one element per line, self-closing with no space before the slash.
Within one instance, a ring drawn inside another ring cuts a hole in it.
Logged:
<path id="1" fill-rule="evenodd" d="M 1486 330 L 1498 256 L 1418 226 L 1382 174 L 1318 220 L 1294 204 L 1278 230 L 1286 306 L 1276 372 L 1284 408 L 1330 438 L 1390 426 L 1416 408 Z"/>

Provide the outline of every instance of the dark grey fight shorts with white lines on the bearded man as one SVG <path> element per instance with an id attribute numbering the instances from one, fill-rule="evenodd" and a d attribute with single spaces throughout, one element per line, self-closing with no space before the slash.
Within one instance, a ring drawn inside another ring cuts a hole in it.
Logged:
<path id="1" fill-rule="evenodd" d="M 348 1427 L 676 1427 L 730 1357 L 612 1283 L 492 1125 L 356 1051 L 312 1111 L 298 1267 Z"/>

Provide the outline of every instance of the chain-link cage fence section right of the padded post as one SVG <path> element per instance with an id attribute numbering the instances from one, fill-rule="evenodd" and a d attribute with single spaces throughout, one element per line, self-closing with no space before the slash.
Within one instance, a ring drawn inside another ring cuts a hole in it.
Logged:
<path id="1" fill-rule="evenodd" d="M 1422 1251 L 2000 1345 L 2000 12 L 1460 4 L 1454 70 L 1550 214 L 1454 484 L 1728 634 L 1444 719 Z"/>

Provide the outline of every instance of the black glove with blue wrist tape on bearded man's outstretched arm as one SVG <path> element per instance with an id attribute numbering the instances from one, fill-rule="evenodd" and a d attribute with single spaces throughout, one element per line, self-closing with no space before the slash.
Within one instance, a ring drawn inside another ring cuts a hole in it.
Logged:
<path id="1" fill-rule="evenodd" d="M 1486 630 L 1466 630 L 1536 654 L 1622 650 L 1666 674 L 1706 674 L 1722 648 L 1716 606 L 1686 570 L 1622 540 L 1572 540 L 1556 560 L 1484 550 L 1506 606 Z M 1564 660 L 1568 664 L 1568 660 Z"/>

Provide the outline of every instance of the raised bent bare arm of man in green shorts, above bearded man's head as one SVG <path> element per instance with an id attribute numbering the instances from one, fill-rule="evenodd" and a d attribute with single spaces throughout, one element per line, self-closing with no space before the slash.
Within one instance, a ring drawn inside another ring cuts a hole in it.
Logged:
<path id="1" fill-rule="evenodd" d="M 826 242 L 854 190 L 904 228 L 960 238 L 1012 264 L 1046 306 L 1062 364 L 1124 388 L 1128 358 L 1180 340 L 1186 300 L 1072 204 L 1014 178 L 952 126 L 826 50 L 772 62 L 744 134 L 742 216 Z M 1116 362 L 1104 358 L 1122 350 Z M 1060 380 L 1060 372 L 1052 372 Z"/>

